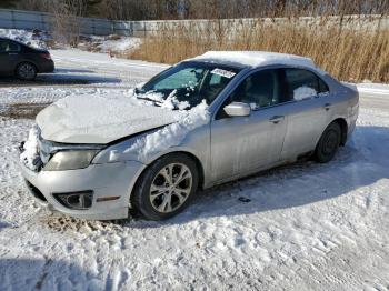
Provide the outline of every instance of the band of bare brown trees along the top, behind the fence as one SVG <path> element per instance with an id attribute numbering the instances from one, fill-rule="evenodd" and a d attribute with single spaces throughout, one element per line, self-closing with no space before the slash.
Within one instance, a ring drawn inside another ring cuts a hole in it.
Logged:
<path id="1" fill-rule="evenodd" d="M 18 8 L 62 12 L 63 6 L 64 14 L 121 20 L 389 13 L 389 0 L 19 0 Z"/>

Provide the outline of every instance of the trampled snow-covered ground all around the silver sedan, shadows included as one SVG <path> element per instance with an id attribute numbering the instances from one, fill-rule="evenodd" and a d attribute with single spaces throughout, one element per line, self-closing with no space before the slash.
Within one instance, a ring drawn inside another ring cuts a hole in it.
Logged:
<path id="1" fill-rule="evenodd" d="M 328 164 L 291 164 L 207 190 L 169 221 L 88 222 L 32 202 L 17 146 L 33 121 L 7 112 L 124 93 L 166 67 L 52 54 L 57 76 L 0 88 L 0 290 L 389 289 L 387 87 L 359 86 L 358 127 Z M 58 81 L 67 78 L 88 83 Z"/>

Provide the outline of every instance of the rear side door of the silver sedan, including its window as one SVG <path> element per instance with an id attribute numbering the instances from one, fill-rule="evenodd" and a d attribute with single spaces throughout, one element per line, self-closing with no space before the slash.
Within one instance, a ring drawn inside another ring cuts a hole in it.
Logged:
<path id="1" fill-rule="evenodd" d="M 288 88 L 288 129 L 281 158 L 295 159 L 312 151 L 330 121 L 331 97 L 328 86 L 315 72 L 306 69 L 283 69 Z"/>

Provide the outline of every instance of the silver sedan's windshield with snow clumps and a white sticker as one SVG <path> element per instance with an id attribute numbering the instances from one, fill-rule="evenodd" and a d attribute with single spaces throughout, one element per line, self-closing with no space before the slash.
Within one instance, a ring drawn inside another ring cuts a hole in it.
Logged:
<path id="1" fill-rule="evenodd" d="M 239 69 L 216 63 L 182 62 L 137 89 L 138 98 L 162 103 L 171 99 L 188 109 L 206 100 L 211 104 Z M 156 98 L 157 97 L 157 98 Z"/>

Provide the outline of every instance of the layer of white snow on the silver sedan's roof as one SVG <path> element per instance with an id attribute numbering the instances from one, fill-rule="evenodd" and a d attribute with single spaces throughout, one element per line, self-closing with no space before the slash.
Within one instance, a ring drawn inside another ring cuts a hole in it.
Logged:
<path id="1" fill-rule="evenodd" d="M 231 63 L 251 68 L 269 64 L 289 64 L 315 68 L 315 63 L 310 58 L 267 51 L 208 51 L 191 60 Z"/>

